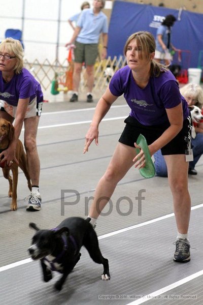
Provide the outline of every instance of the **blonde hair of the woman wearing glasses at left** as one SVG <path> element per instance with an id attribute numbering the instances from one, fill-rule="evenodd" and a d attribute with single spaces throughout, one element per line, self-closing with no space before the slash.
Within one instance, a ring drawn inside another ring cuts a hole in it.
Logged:
<path id="1" fill-rule="evenodd" d="M 0 43 L 0 52 L 7 52 L 14 54 L 17 63 L 14 67 L 15 73 L 19 74 L 23 68 L 23 48 L 19 40 L 13 38 L 6 38 Z"/>

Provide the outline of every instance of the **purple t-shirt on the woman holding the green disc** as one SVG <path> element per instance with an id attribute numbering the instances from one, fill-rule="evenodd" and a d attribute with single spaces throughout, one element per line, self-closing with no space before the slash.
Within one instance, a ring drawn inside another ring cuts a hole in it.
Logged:
<path id="1" fill-rule="evenodd" d="M 130 115 L 142 125 L 159 125 L 168 122 L 165 109 L 183 105 L 183 116 L 189 115 L 187 102 L 181 96 L 178 82 L 171 73 L 161 73 L 159 77 L 150 77 L 147 86 L 141 89 L 133 79 L 128 66 L 118 70 L 109 84 L 111 93 L 124 98 L 131 108 Z"/>

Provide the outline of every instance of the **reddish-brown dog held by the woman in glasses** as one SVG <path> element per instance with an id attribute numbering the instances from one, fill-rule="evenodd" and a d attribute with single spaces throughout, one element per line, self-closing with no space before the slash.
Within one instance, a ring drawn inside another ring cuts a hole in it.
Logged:
<path id="1" fill-rule="evenodd" d="M 0 152 L 8 148 L 10 141 L 13 139 L 14 127 L 6 119 L 0 118 Z M 11 166 L 8 166 L 6 162 L 0 164 L 3 168 L 4 177 L 9 180 L 9 197 L 12 197 L 11 210 L 15 211 L 17 209 L 17 184 L 18 184 L 18 166 L 22 169 L 27 179 L 27 185 L 31 191 L 31 181 L 27 169 L 27 157 L 23 149 L 22 142 L 18 140 L 16 146 L 16 162 L 13 162 Z M 12 170 L 13 179 L 10 176 L 10 169 Z"/>

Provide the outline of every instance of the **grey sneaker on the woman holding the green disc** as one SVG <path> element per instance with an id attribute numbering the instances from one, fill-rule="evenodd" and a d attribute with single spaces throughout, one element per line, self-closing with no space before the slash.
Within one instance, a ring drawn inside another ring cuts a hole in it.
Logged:
<path id="1" fill-rule="evenodd" d="M 188 239 L 179 238 L 174 242 L 176 252 L 174 253 L 174 261 L 187 263 L 190 261 L 190 243 Z"/>

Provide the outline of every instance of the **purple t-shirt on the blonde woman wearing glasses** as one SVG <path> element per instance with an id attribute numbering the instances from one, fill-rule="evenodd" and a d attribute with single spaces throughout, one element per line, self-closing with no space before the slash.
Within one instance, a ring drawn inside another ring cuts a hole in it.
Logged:
<path id="1" fill-rule="evenodd" d="M 17 106 L 19 99 L 29 98 L 31 102 L 35 97 L 37 97 L 37 103 L 43 102 L 41 86 L 27 69 L 23 68 L 20 74 L 15 74 L 8 83 L 3 81 L 2 71 L 0 71 L 0 100 Z"/>

